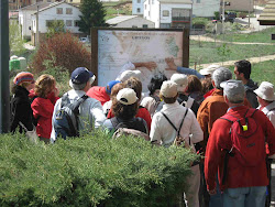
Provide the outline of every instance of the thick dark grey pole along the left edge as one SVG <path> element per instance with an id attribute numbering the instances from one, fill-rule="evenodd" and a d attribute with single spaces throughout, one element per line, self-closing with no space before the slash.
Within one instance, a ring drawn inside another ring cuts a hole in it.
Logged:
<path id="1" fill-rule="evenodd" d="M 9 0 L 0 1 L 0 133 L 10 127 Z"/>

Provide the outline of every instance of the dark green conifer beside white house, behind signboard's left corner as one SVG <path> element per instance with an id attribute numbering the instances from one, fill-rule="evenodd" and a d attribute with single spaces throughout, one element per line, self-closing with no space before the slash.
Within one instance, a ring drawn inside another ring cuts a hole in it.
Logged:
<path id="1" fill-rule="evenodd" d="M 79 31 L 90 34 L 90 28 L 106 26 L 108 25 L 105 21 L 106 9 L 102 2 L 98 0 L 82 0 L 80 4 Z"/>

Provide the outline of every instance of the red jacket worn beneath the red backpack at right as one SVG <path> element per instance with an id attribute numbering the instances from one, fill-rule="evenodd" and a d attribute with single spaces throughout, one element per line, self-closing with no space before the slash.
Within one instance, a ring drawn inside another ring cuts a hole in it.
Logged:
<path id="1" fill-rule="evenodd" d="M 234 117 L 244 117 L 249 108 L 245 106 L 232 108 L 228 113 Z M 258 130 L 263 131 L 260 139 L 265 139 L 270 145 L 271 154 L 275 153 L 275 129 L 272 122 L 266 118 L 262 111 L 256 111 L 253 116 L 258 126 Z M 226 185 L 222 185 L 223 164 L 224 164 L 224 149 L 230 150 L 232 146 L 230 138 L 231 123 L 223 119 L 218 119 L 213 123 L 210 137 L 207 143 L 206 157 L 205 157 L 205 176 L 207 188 L 212 190 L 216 187 L 216 175 L 218 172 L 219 184 L 221 189 L 238 188 L 238 187 L 252 187 L 252 186 L 266 186 L 268 178 L 266 173 L 265 159 L 255 167 L 243 166 L 234 159 L 229 157 Z"/>

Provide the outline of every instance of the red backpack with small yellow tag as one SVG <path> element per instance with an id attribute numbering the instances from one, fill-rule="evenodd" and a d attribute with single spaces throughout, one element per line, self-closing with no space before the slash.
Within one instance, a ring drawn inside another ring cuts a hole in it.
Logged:
<path id="1" fill-rule="evenodd" d="M 228 154 L 234 156 L 243 166 L 256 166 L 266 156 L 265 139 L 253 118 L 257 109 L 248 109 L 243 118 L 224 115 L 220 119 L 231 123 L 232 146 Z"/>

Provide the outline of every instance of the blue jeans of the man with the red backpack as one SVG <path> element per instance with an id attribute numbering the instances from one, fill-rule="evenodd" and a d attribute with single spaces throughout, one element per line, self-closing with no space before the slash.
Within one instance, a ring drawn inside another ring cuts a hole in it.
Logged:
<path id="1" fill-rule="evenodd" d="M 223 207 L 263 207 L 266 186 L 228 188 L 222 194 Z"/>

